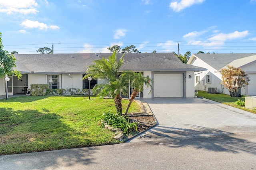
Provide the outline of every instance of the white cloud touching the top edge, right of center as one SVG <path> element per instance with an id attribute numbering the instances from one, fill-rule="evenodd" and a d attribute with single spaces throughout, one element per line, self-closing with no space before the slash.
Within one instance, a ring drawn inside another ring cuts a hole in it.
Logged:
<path id="1" fill-rule="evenodd" d="M 169 7 L 172 8 L 174 12 L 180 12 L 181 10 L 188 8 L 194 4 L 201 4 L 205 0 L 181 0 L 180 2 L 171 2 Z"/>

